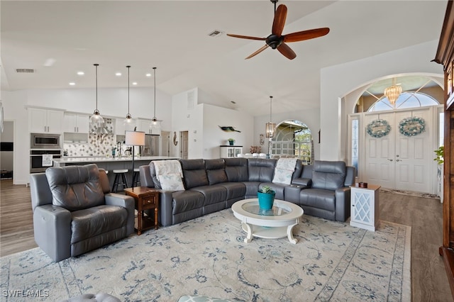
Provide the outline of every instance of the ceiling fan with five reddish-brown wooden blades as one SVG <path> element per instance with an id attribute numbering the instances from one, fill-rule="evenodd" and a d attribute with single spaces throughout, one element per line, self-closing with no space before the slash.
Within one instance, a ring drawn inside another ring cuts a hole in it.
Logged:
<path id="1" fill-rule="evenodd" d="M 282 35 L 282 30 L 284 30 L 285 25 L 285 18 L 287 18 L 287 6 L 285 6 L 284 4 L 279 4 L 279 6 L 277 6 L 276 9 L 276 3 L 278 0 L 270 1 L 273 4 L 275 4 L 275 19 L 272 21 L 271 35 L 268 35 L 267 38 L 257 38 L 250 37 L 248 35 L 233 35 L 231 33 L 227 34 L 228 36 L 234 38 L 265 41 L 266 44 L 264 46 L 262 46 L 256 52 L 253 52 L 253 54 L 250 55 L 249 57 L 246 57 L 246 59 L 250 59 L 251 57 L 258 55 L 260 52 L 267 49 L 267 47 L 271 47 L 272 49 L 279 50 L 279 52 L 282 53 L 282 55 L 287 57 L 289 60 L 293 60 L 295 57 L 297 57 L 297 54 L 286 43 L 319 38 L 329 33 L 329 28 L 325 27 L 298 31 L 296 33 L 289 33 L 288 35 Z"/>

